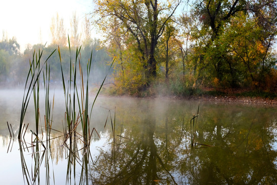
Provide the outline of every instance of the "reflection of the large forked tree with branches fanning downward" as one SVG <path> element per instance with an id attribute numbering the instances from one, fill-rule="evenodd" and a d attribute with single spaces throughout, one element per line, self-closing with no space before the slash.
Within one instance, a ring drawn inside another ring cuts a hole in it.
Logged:
<path id="1" fill-rule="evenodd" d="M 142 115 L 134 116 L 128 128 L 124 123 L 119 126 L 120 133 L 115 142 L 111 142 L 111 150 L 102 150 L 100 158 L 91 165 L 93 183 L 177 184 L 171 171 L 174 168 L 171 159 L 176 157 L 174 144 L 180 143 L 179 135 L 173 136 L 170 132 L 168 117 L 164 118 L 165 124 L 157 125 L 155 116 L 146 112 Z M 181 133 L 179 130 L 177 132 Z"/>

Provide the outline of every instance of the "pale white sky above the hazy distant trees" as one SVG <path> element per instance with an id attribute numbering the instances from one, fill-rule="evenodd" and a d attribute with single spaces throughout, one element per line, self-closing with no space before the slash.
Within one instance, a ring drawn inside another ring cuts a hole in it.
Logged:
<path id="1" fill-rule="evenodd" d="M 7 33 L 8 39 L 14 36 L 21 51 L 24 51 L 27 44 L 50 43 L 50 24 L 56 13 L 64 18 L 65 27 L 70 34 L 73 12 L 76 11 L 82 27 L 86 14 L 92 10 L 92 0 L 5 0 L 0 6 L 0 40 L 3 31 Z"/>

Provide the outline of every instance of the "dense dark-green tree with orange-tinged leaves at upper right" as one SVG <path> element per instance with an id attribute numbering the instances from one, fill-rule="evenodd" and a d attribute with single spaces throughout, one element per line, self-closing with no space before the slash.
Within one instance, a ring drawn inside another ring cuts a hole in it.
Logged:
<path id="1" fill-rule="evenodd" d="M 197 18 L 192 43 L 198 75 L 231 86 L 241 85 L 249 76 L 256 84 L 258 75 L 272 67 L 276 8 L 271 0 L 196 1 L 189 18 Z"/>

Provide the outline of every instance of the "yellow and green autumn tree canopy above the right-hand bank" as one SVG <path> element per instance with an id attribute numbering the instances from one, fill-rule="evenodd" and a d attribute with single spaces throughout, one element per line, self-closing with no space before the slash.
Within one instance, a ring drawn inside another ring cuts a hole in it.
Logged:
<path id="1" fill-rule="evenodd" d="M 177 88 L 260 88 L 276 76 L 276 1 L 94 2 L 94 23 L 117 58 L 123 91 L 136 93 L 162 77 Z"/>

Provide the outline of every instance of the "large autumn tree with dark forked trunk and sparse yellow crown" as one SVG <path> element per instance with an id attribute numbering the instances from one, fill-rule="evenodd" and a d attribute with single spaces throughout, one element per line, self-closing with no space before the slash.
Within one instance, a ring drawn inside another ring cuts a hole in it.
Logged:
<path id="1" fill-rule="evenodd" d="M 164 34 L 166 23 L 171 20 L 182 1 L 95 1 L 96 23 L 108 32 L 120 29 L 128 34 L 129 44 L 136 47 L 145 70 L 147 84 L 157 75 L 156 46 Z M 116 20 L 116 21 L 115 21 Z"/>

